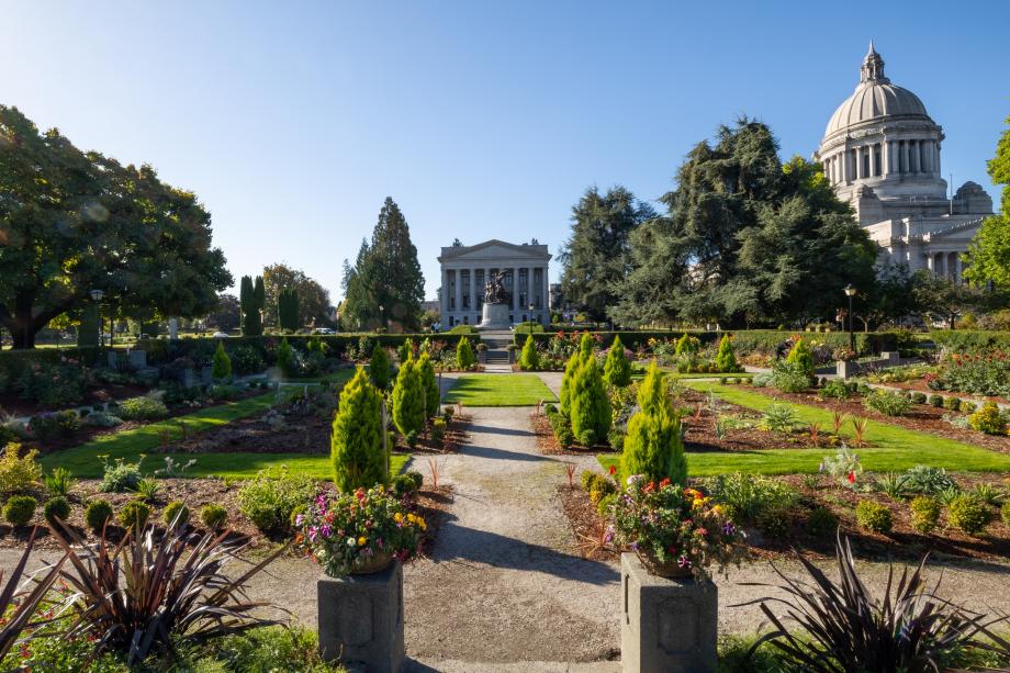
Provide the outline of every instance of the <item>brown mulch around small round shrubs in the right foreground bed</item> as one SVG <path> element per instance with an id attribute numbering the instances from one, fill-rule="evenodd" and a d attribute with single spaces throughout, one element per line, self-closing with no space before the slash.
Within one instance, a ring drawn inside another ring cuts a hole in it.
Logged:
<path id="1" fill-rule="evenodd" d="M 766 535 L 754 524 L 744 525 L 747 546 L 754 559 L 779 559 L 793 557 L 794 551 L 808 559 L 834 558 L 834 531 L 815 535 L 807 528 L 807 515 L 817 506 L 824 506 L 839 518 L 842 534 L 852 540 L 853 552 L 861 558 L 898 561 L 918 561 L 925 552 L 934 560 L 975 560 L 1006 563 L 1010 559 L 1010 527 L 995 512 L 994 519 L 981 537 L 970 537 L 956 528 L 946 526 L 945 515 L 940 525 L 929 535 L 911 528 L 911 516 L 907 502 L 896 502 L 883 493 L 856 493 L 823 481 L 817 489 L 809 489 L 799 474 L 778 479 L 799 492 L 792 523 L 784 531 Z M 957 483 L 969 489 L 977 483 L 999 482 L 1010 485 L 1006 478 L 995 474 L 955 475 Z M 562 509 L 579 540 L 580 550 L 586 558 L 615 561 L 619 550 L 613 545 L 603 545 L 603 531 L 607 521 L 599 516 L 581 487 L 566 484 L 558 486 Z M 888 535 L 863 530 L 855 523 L 855 506 L 861 500 L 872 500 L 885 505 L 891 512 L 894 528 Z"/>

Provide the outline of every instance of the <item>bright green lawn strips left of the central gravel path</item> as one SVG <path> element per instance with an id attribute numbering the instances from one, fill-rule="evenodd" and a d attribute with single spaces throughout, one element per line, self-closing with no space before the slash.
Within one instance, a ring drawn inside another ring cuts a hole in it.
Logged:
<path id="1" fill-rule="evenodd" d="M 332 468 L 329 456 L 323 453 L 158 453 L 161 446 L 161 435 L 167 434 L 169 440 L 179 439 L 181 428 L 179 422 L 186 424 L 187 433 L 193 434 L 220 427 L 232 420 L 254 416 L 266 412 L 274 400 L 274 394 L 258 395 L 240 402 L 233 402 L 221 406 L 212 406 L 186 416 L 179 416 L 158 423 L 152 423 L 132 430 L 123 430 L 113 435 L 103 435 L 92 441 L 65 451 L 48 453 L 40 459 L 42 466 L 52 470 L 64 467 L 81 479 L 99 478 L 102 475 L 102 460 L 99 456 L 111 459 L 123 458 L 136 461 L 142 453 L 148 455 L 145 469 L 154 471 L 161 467 L 165 456 L 173 456 L 186 462 L 194 458 L 197 464 L 190 469 L 193 476 L 214 476 L 244 479 L 255 475 L 263 468 L 288 466 L 292 473 L 308 474 L 314 479 L 330 479 Z M 399 473 L 409 456 L 394 453 L 390 463 L 390 471 Z"/>

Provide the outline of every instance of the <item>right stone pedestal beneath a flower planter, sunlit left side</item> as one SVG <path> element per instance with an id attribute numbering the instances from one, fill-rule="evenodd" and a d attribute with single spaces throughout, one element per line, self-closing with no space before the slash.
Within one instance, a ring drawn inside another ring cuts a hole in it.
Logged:
<path id="1" fill-rule="evenodd" d="M 702 673 L 717 664 L 719 593 L 711 581 L 649 574 L 620 557 L 620 660 L 625 673 Z"/>

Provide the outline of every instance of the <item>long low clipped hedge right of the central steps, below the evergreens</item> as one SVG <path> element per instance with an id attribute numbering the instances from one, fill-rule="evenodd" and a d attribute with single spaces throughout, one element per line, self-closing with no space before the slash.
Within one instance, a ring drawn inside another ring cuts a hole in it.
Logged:
<path id="1" fill-rule="evenodd" d="M 620 336 L 620 343 L 627 348 L 638 348 L 644 346 L 649 339 L 678 339 L 682 335 L 691 334 L 697 337 L 703 346 L 716 344 L 722 338 L 726 332 L 704 332 L 704 330 L 684 330 L 684 332 L 594 332 L 603 340 L 603 346 L 609 347 L 615 336 Z M 737 332 L 727 330 L 733 335 L 737 352 L 761 352 L 774 354 L 776 346 L 786 340 L 792 334 L 788 330 L 778 329 L 740 329 Z M 546 345 L 557 335 L 557 332 L 548 334 L 534 334 L 532 337 L 539 345 Z M 816 344 L 826 344 L 830 348 L 844 348 L 849 346 L 848 332 L 827 332 L 827 333 L 800 333 L 807 339 Z M 894 332 L 858 332 L 855 334 L 855 347 L 858 355 L 878 355 L 883 350 L 895 350 L 898 346 L 900 335 Z M 514 340 L 518 346 L 526 343 L 526 334 L 514 335 Z"/>

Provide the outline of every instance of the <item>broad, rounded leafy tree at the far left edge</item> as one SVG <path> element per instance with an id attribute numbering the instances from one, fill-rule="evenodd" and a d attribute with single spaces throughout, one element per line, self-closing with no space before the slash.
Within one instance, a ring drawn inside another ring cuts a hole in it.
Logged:
<path id="1" fill-rule="evenodd" d="M 116 314 L 191 317 L 231 284 L 195 194 L 0 105 L 0 324 L 15 348 L 92 290 Z"/>

